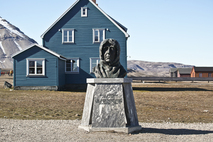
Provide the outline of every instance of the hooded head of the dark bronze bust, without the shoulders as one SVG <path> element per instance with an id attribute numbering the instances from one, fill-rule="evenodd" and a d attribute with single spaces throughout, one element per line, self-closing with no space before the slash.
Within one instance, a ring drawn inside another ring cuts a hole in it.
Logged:
<path id="1" fill-rule="evenodd" d="M 120 61 L 120 45 L 114 39 L 105 39 L 100 44 L 100 59 L 108 65 L 116 64 Z"/>

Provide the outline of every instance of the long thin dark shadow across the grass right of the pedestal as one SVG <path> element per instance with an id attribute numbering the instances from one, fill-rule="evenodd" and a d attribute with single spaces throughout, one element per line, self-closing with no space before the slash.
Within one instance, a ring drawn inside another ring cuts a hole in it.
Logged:
<path id="1" fill-rule="evenodd" d="M 212 91 L 202 88 L 159 88 L 159 87 L 133 87 L 136 91 Z"/>

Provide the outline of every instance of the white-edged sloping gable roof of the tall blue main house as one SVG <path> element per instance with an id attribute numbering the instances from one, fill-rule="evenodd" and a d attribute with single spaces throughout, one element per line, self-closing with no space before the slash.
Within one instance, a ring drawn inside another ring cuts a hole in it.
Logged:
<path id="1" fill-rule="evenodd" d="M 80 0 L 77 0 L 72 6 L 70 6 L 42 35 L 41 38 L 44 38 L 44 35 L 52 29 Z M 92 0 L 89 0 L 101 13 L 103 13 L 115 26 L 117 26 L 124 35 L 128 38 L 130 35 L 127 33 L 127 28 L 118 23 L 116 20 L 111 18 L 109 15 L 107 15 L 96 3 L 94 3 Z"/>

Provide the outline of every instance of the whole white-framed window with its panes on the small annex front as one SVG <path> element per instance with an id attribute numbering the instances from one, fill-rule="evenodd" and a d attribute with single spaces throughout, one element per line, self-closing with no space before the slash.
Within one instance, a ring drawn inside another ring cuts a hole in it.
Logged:
<path id="1" fill-rule="evenodd" d="M 45 59 L 27 59 L 27 76 L 45 75 Z"/>

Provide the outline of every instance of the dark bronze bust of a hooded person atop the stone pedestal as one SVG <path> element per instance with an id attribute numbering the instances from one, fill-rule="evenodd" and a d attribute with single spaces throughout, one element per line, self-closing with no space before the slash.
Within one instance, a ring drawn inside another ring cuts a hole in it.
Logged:
<path id="1" fill-rule="evenodd" d="M 124 78 L 127 74 L 120 64 L 120 45 L 114 39 L 105 39 L 99 47 L 100 63 L 93 68 L 96 78 Z"/>

